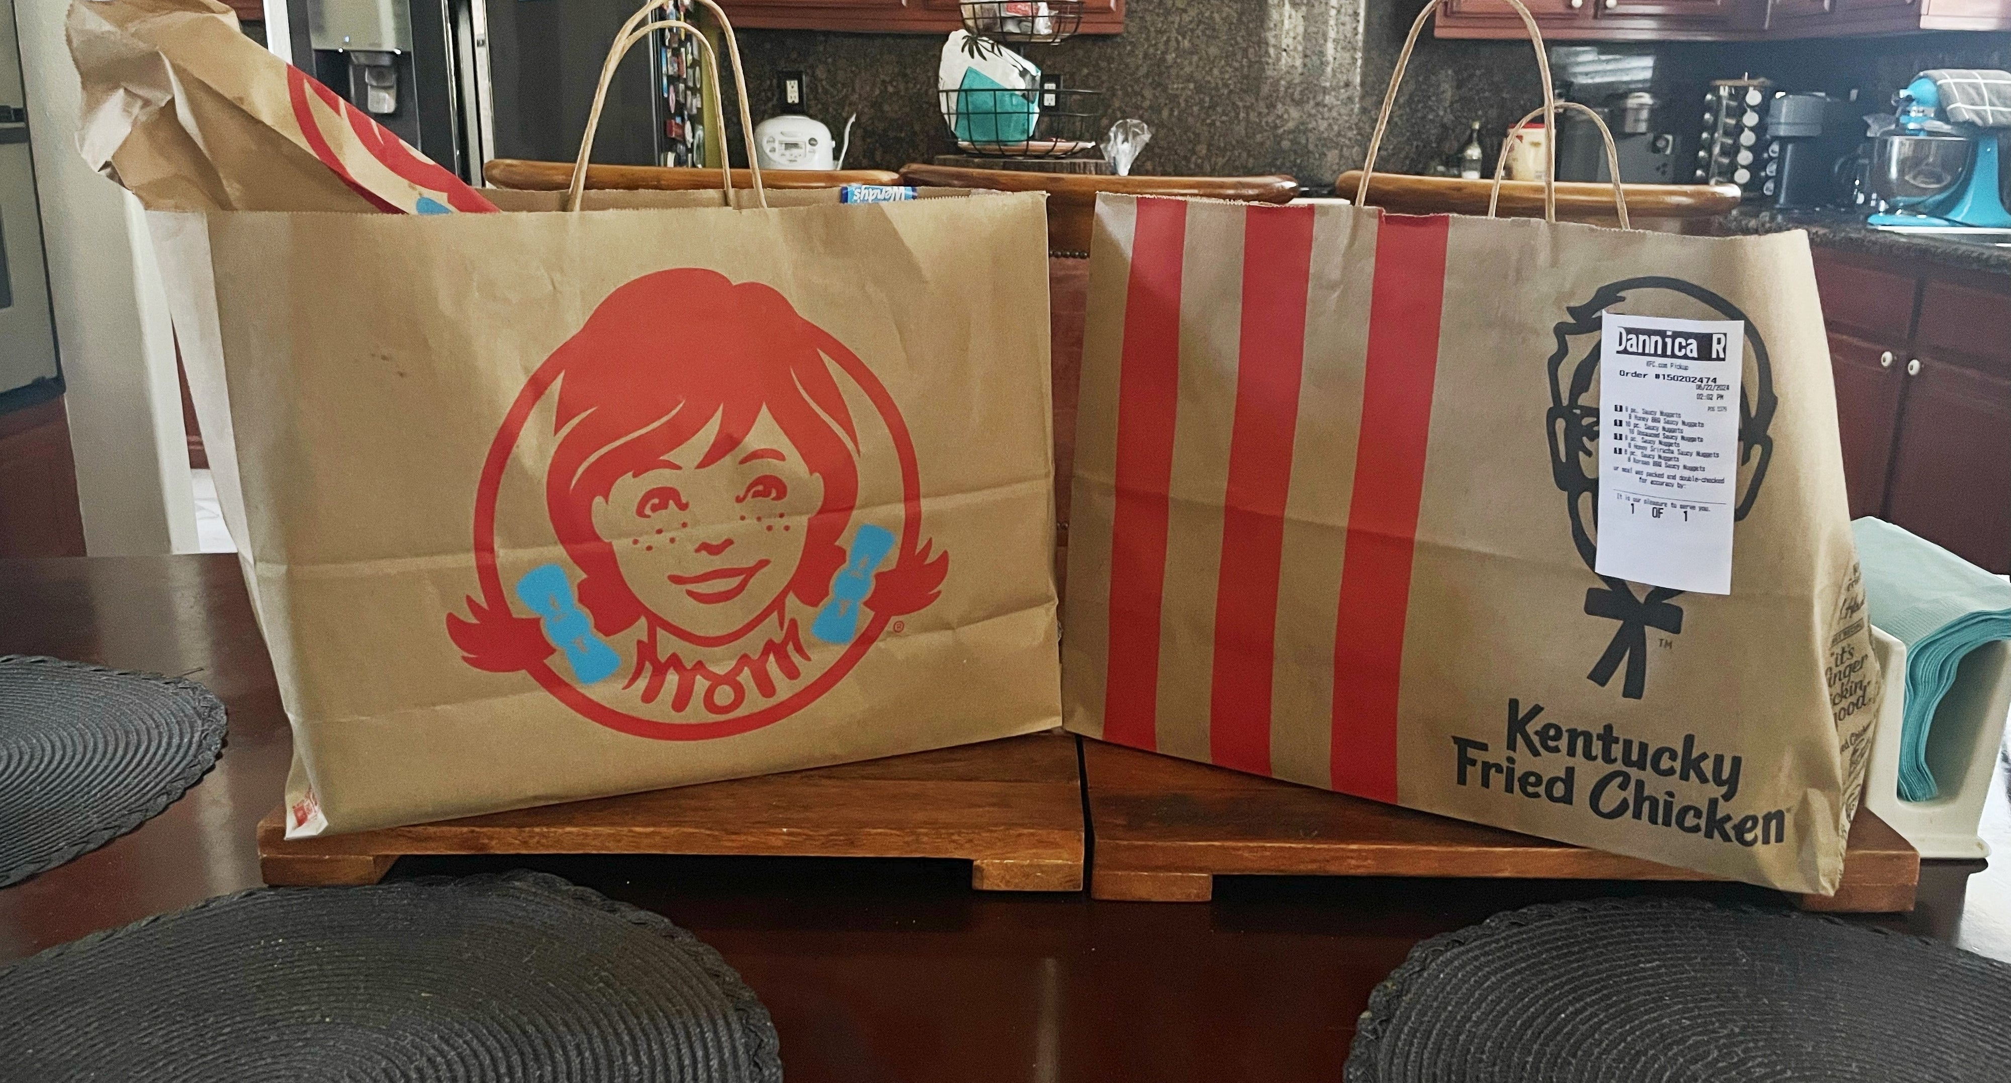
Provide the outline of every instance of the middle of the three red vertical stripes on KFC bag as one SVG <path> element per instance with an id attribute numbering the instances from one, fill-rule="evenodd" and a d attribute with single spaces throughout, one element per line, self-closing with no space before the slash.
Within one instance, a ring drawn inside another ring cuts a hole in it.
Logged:
<path id="1" fill-rule="evenodd" d="M 1223 493 L 1223 564 L 1215 590 L 1209 759 L 1271 773 L 1271 658 L 1285 491 L 1305 366 L 1305 288 L 1313 207 L 1249 207 L 1243 217 L 1243 328 L 1237 411 Z"/>

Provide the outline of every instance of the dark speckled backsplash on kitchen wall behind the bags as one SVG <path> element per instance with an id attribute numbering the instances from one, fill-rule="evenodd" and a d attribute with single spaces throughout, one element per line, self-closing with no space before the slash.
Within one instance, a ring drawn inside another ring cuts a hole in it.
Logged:
<path id="1" fill-rule="evenodd" d="M 1106 125 L 1122 117 L 1152 125 L 1138 173 L 1291 173 L 1301 183 L 1329 185 L 1359 165 L 1396 52 L 1420 6 L 1420 0 L 1126 0 L 1122 34 L 1026 46 L 1026 54 L 1070 87 L 1104 91 Z M 941 36 L 744 30 L 740 38 L 756 119 L 774 113 L 774 72 L 800 68 L 810 115 L 831 125 L 833 135 L 843 133 L 847 115 L 859 113 L 847 165 L 899 169 L 953 151 L 935 107 Z M 2011 66 L 2011 34 L 1969 32 L 1609 48 L 1653 52 L 1657 91 L 1685 107 L 1705 81 L 1748 70 L 1790 89 L 1860 87 L 1872 111 L 1927 66 Z M 1524 42 L 1426 36 L 1398 99 L 1384 165 L 1422 171 L 1462 141 L 1468 121 L 1480 121 L 1492 141 L 1536 103 L 1536 70 Z M 738 125 L 728 143 L 738 147 Z"/>

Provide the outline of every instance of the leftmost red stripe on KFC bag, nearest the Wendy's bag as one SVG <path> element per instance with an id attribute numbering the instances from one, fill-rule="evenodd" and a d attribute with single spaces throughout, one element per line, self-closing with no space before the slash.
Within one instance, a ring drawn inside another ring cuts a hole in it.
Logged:
<path id="1" fill-rule="evenodd" d="M 1158 610 L 1166 584 L 1166 493 L 1180 389 L 1182 199 L 1138 199 L 1124 352 L 1118 358 L 1116 507 L 1110 523 L 1110 656 L 1104 741 L 1158 745 Z"/>

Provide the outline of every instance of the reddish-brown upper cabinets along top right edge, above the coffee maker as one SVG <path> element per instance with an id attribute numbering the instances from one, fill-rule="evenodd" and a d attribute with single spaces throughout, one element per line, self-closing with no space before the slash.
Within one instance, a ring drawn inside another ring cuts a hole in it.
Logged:
<path id="1" fill-rule="evenodd" d="M 2011 0 L 1540 0 L 1528 4 L 1548 40 L 1778 40 L 2011 30 Z M 1520 38 L 1502 0 L 1452 0 L 1440 38 Z"/>

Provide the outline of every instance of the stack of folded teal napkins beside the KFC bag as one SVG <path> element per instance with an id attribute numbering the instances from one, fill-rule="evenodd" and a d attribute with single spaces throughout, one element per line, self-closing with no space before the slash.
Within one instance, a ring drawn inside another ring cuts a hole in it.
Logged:
<path id="1" fill-rule="evenodd" d="M 1906 644 L 1906 709 L 1898 741 L 1898 795 L 1931 801 L 1927 731 L 1965 654 L 2011 640 L 2011 584 L 1882 519 L 1850 523 L 1872 624 Z M 1886 680 L 1892 676 L 1886 674 Z"/>

